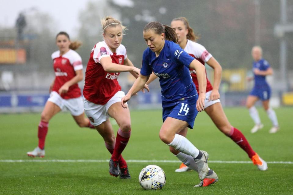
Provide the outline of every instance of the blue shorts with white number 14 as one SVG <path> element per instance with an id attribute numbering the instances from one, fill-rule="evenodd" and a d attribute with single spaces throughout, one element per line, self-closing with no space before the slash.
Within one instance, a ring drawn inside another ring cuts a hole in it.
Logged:
<path id="1" fill-rule="evenodd" d="M 174 106 L 163 108 L 163 122 L 167 119 L 167 117 L 171 117 L 186 121 L 188 123 L 188 127 L 193 129 L 194 119 L 197 113 L 196 101 L 195 103 L 194 101 L 179 102 Z"/>

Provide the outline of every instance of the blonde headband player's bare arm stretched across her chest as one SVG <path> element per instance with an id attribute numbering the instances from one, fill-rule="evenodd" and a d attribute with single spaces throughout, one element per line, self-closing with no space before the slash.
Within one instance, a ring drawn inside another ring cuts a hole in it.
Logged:
<path id="1" fill-rule="evenodd" d="M 140 70 L 134 66 L 121 66 L 120 64 L 112 63 L 111 57 L 104 57 L 100 60 L 100 64 L 103 69 L 110 73 L 121 73 L 121 72 L 135 72 L 139 74 Z"/>

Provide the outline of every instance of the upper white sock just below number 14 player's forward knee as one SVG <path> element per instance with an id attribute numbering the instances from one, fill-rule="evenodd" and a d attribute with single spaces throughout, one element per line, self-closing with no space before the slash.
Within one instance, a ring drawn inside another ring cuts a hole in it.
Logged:
<path id="1" fill-rule="evenodd" d="M 193 158 L 196 158 L 199 154 L 199 150 L 182 135 L 175 134 L 173 141 L 168 145 L 174 147 L 179 152 L 192 156 Z"/>

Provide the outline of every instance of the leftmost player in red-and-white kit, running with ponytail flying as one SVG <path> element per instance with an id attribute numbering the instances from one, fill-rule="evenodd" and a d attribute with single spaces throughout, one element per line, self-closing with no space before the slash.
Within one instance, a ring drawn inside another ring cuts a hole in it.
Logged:
<path id="1" fill-rule="evenodd" d="M 59 50 L 52 53 L 55 79 L 50 85 L 50 97 L 41 114 L 38 147 L 27 152 L 31 157 L 45 156 L 44 146 L 49 120 L 63 109 L 71 112 L 78 126 L 94 128 L 89 119 L 85 118 L 81 91 L 77 84 L 83 79 L 83 67 L 80 55 L 74 50 L 78 49 L 81 43 L 71 42 L 66 32 L 60 32 L 56 35 L 56 45 Z"/>

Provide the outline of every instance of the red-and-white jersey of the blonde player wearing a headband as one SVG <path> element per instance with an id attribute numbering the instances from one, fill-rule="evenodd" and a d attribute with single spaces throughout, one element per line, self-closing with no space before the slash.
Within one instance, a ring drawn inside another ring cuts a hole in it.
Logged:
<path id="1" fill-rule="evenodd" d="M 105 41 L 102 41 L 98 42 L 91 51 L 85 72 L 83 95 L 88 101 L 100 105 L 106 104 L 121 90 L 117 80 L 120 73 L 106 72 L 99 63 L 104 57 L 111 57 L 112 62 L 117 66 L 123 65 L 127 58 L 126 49 L 121 44 L 116 49 L 116 53 L 113 53 Z"/>

